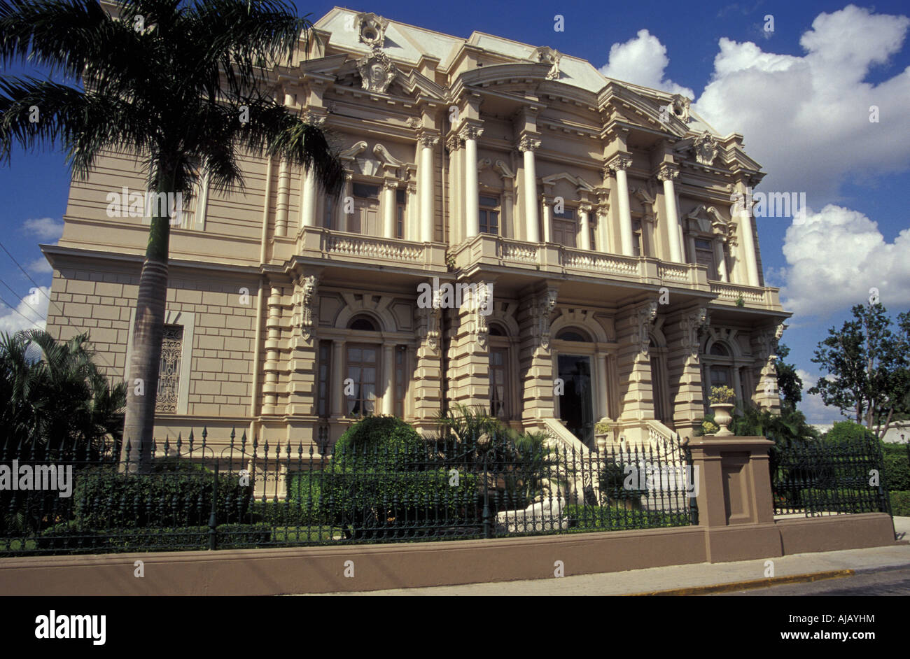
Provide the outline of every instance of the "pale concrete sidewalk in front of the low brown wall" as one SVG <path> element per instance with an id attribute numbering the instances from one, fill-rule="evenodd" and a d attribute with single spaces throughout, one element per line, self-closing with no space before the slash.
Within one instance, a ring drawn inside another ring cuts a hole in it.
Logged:
<path id="1" fill-rule="evenodd" d="M 895 532 L 900 541 L 910 540 L 910 517 L 895 517 Z M 843 571 L 862 572 L 885 567 L 910 566 L 910 544 L 899 544 L 872 549 L 848 549 L 817 554 L 793 554 L 773 559 L 774 577 L 784 582 L 786 577 L 798 581 L 815 578 L 844 576 Z M 608 574 L 580 574 L 571 576 L 571 565 L 566 565 L 562 578 L 535 579 L 531 581 L 496 582 L 490 584 L 463 584 L 433 588 L 399 588 L 394 590 L 355 593 L 327 593 L 345 595 L 623 595 L 654 593 L 681 588 L 699 588 L 716 584 L 739 584 L 765 578 L 763 560 L 735 563 L 702 563 L 654 567 L 646 570 L 629 570 Z M 837 574 L 841 573 L 841 574 Z M 804 578 L 803 578 L 803 575 Z M 696 591 L 697 593 L 697 591 Z M 693 594 L 696 594 L 693 593 Z"/>

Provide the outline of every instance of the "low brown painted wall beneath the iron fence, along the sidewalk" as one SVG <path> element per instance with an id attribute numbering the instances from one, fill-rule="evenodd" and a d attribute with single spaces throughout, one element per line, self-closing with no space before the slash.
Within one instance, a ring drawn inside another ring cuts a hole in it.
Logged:
<path id="1" fill-rule="evenodd" d="M 9 595 L 267 595 L 546 579 L 895 544 L 887 514 L 441 543 L 0 559 Z M 142 561 L 144 576 L 136 576 Z M 348 575 L 346 575 L 346 573 Z"/>

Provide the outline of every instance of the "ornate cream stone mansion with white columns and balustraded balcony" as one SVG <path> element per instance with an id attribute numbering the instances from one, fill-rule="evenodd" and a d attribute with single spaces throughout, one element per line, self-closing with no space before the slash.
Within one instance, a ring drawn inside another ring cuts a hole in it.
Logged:
<path id="1" fill-rule="evenodd" d="M 242 195 L 203 179 L 171 236 L 159 436 L 321 446 L 461 403 L 590 445 L 602 418 L 611 441 L 690 434 L 711 384 L 777 405 L 788 314 L 733 203 L 763 177 L 742 135 L 549 47 L 339 8 L 316 32 L 271 83 L 338 141 L 346 190 L 260 157 Z M 89 329 L 128 380 L 147 224 L 110 216 L 124 187 L 144 174 L 111 154 L 44 251 L 49 330 Z M 420 305 L 434 278 L 490 299 Z"/>

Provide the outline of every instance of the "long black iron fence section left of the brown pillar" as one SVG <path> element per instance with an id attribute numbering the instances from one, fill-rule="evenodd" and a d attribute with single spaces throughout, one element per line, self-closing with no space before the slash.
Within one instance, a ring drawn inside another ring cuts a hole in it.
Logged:
<path id="1" fill-rule="evenodd" d="M 127 447 L 127 460 L 141 451 Z M 579 454 L 505 438 L 346 448 L 166 441 L 0 447 L 0 555 L 571 534 L 698 524 L 678 440 Z M 4 481 L 4 474 L 7 480 Z M 15 481 L 15 483 L 14 483 Z"/>

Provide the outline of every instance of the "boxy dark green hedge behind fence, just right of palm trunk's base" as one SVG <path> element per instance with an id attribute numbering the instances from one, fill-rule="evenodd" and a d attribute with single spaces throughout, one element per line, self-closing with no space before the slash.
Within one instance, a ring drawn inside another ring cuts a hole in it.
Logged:
<path id="1" fill-rule="evenodd" d="M 86 470 L 76 480 L 74 520 L 81 528 L 182 527 L 208 524 L 214 474 L 197 465 L 153 474 L 118 474 L 110 468 Z M 247 513 L 252 485 L 237 474 L 219 474 L 218 524 Z"/>

